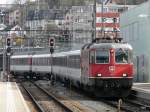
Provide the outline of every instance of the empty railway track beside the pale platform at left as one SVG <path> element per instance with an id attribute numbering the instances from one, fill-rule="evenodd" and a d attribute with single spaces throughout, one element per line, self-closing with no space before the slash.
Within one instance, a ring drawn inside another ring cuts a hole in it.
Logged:
<path id="1" fill-rule="evenodd" d="M 60 102 L 55 96 L 44 91 L 38 85 L 28 82 L 22 83 L 39 112 L 73 112 L 69 107 Z"/>

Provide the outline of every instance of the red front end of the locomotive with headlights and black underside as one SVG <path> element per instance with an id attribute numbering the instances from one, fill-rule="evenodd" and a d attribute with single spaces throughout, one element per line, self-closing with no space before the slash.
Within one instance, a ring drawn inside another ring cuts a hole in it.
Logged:
<path id="1" fill-rule="evenodd" d="M 89 49 L 89 78 L 106 96 L 125 97 L 133 80 L 132 47 L 124 43 L 95 44 Z M 83 74 L 82 74 L 83 75 Z"/>

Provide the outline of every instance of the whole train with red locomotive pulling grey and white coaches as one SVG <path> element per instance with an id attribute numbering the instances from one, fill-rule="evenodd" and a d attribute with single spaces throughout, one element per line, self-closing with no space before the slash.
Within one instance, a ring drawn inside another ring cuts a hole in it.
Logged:
<path id="1" fill-rule="evenodd" d="M 53 55 L 13 55 L 10 70 L 15 76 L 53 76 L 100 97 L 126 97 L 132 87 L 132 57 L 128 43 L 90 43 Z"/>

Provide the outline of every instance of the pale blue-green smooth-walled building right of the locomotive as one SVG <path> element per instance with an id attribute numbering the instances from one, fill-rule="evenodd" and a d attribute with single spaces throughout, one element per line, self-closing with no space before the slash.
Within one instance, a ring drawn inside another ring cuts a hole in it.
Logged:
<path id="1" fill-rule="evenodd" d="M 122 13 L 120 29 L 134 49 L 134 80 L 150 82 L 150 1 Z"/>

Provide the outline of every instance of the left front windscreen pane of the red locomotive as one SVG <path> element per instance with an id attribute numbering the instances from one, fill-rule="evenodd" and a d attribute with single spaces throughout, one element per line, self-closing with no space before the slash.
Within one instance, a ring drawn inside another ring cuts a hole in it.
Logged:
<path id="1" fill-rule="evenodd" d="M 109 50 L 98 49 L 96 51 L 96 63 L 109 63 Z"/>

